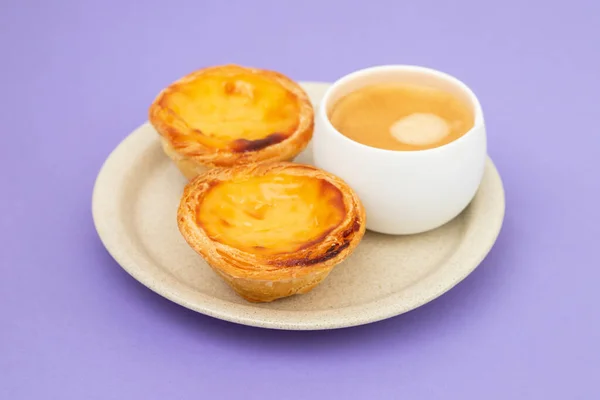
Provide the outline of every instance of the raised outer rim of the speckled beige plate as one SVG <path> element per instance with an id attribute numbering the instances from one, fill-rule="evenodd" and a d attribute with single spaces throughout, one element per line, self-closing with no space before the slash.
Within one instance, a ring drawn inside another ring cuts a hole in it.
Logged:
<path id="1" fill-rule="evenodd" d="M 299 82 L 303 87 L 314 92 L 324 92 L 324 90 L 330 85 L 327 82 L 316 82 L 316 81 L 301 81 Z M 315 99 L 313 102 L 318 103 Z M 381 321 L 384 319 L 392 318 L 397 315 L 409 312 L 414 310 L 424 304 L 427 304 L 438 297 L 442 296 L 452 288 L 454 288 L 458 283 L 462 282 L 468 275 L 470 275 L 487 257 L 491 249 L 496 243 L 496 240 L 502 230 L 505 209 L 506 209 L 506 198 L 504 185 L 502 182 L 502 178 L 494 165 L 492 159 L 487 156 L 486 160 L 486 169 L 490 169 L 491 177 L 494 179 L 495 184 L 497 186 L 496 190 L 498 190 L 498 195 L 500 199 L 498 200 L 497 205 L 500 206 L 497 210 L 496 218 L 494 218 L 495 225 L 491 227 L 491 235 L 488 238 L 487 244 L 485 248 L 479 249 L 477 252 L 477 256 L 472 260 L 472 266 L 467 268 L 462 268 L 460 274 L 457 274 L 452 282 L 442 285 L 435 286 L 436 290 L 430 290 L 426 296 L 419 297 L 420 300 L 413 300 L 409 303 L 396 302 L 397 307 L 390 306 L 388 304 L 385 306 L 385 303 L 395 304 L 393 301 L 390 301 L 390 298 L 396 297 L 395 294 L 391 294 L 382 299 L 374 300 L 370 303 L 366 303 L 369 305 L 369 309 L 378 310 L 377 312 L 364 312 L 365 305 L 354 305 L 343 308 L 334 309 L 337 310 L 346 310 L 346 312 L 342 313 L 343 317 L 334 316 L 330 319 L 321 320 L 320 323 L 312 322 L 311 320 L 302 321 L 302 314 L 310 314 L 310 315 L 323 315 L 324 317 L 327 315 L 328 311 L 332 310 L 319 310 L 319 311 L 291 311 L 291 310 L 271 310 L 256 307 L 252 304 L 239 304 L 239 303 L 231 303 L 226 300 L 218 299 L 207 294 L 202 293 L 201 297 L 207 297 L 211 299 L 208 304 L 193 304 L 189 300 L 186 300 L 185 296 L 181 296 L 181 294 L 176 291 L 168 290 L 168 287 L 165 285 L 159 285 L 155 282 L 155 279 L 152 276 L 146 276 L 143 273 L 140 273 L 140 269 L 136 268 L 135 265 L 138 264 L 141 260 L 135 260 L 135 257 L 128 256 L 127 252 L 123 252 L 123 246 L 118 242 L 119 240 L 111 240 L 111 235 L 114 233 L 114 229 L 111 229 L 111 224 L 106 223 L 106 219 L 109 218 L 107 215 L 110 214 L 112 210 L 107 210 L 104 206 L 106 204 L 105 197 L 102 197 L 103 194 L 106 193 L 106 190 L 110 191 L 110 187 L 116 184 L 115 175 L 111 174 L 111 169 L 119 164 L 121 165 L 121 160 L 124 158 L 131 159 L 131 154 L 127 151 L 128 146 L 131 146 L 135 143 L 136 139 L 139 139 L 141 135 L 145 134 L 145 130 L 152 129 L 149 125 L 148 121 L 145 121 L 138 127 L 136 127 L 132 132 L 130 132 L 120 143 L 109 153 L 106 157 L 102 166 L 99 169 L 99 172 L 96 176 L 94 187 L 92 191 L 92 218 L 94 221 L 94 226 L 96 228 L 96 232 L 102 242 L 103 246 L 106 248 L 108 253 L 112 256 L 112 258 L 123 268 L 131 277 L 140 282 L 142 285 L 146 286 L 148 289 L 152 290 L 156 294 L 176 303 L 180 306 L 188 308 L 190 310 L 196 311 L 198 313 L 221 319 L 224 321 L 254 326 L 258 328 L 268 328 L 268 329 L 277 329 L 277 330 L 325 330 L 325 329 L 340 329 L 347 328 L 353 326 L 359 326 L 364 324 L 369 324 L 377 321 Z M 158 138 L 157 138 L 158 139 Z M 140 139 L 141 140 L 141 139 Z M 141 152 L 140 152 L 141 153 Z M 139 154 L 138 154 L 139 155 Z M 128 161 L 129 163 L 134 163 L 134 161 Z M 121 171 L 120 175 L 126 175 L 126 171 L 123 172 L 121 168 L 117 168 L 116 170 Z M 116 172 L 116 171 L 115 171 Z M 123 179 L 123 178 L 121 178 Z M 130 250 L 132 250 L 130 248 Z M 134 251 L 135 253 L 135 251 Z M 141 269 L 143 271 L 143 269 Z M 435 275 L 435 274 L 434 274 Z M 179 282 L 179 281 L 177 281 Z M 184 287 L 183 284 L 179 283 L 181 286 L 179 289 Z M 414 286 L 414 285 L 413 285 Z M 410 287 L 409 287 L 410 288 Z M 191 288 L 187 287 L 187 290 L 191 290 Z M 197 292 L 196 292 L 197 293 Z M 380 305 L 377 308 L 377 305 Z M 232 312 L 231 309 L 234 311 Z M 359 316 L 354 315 L 354 317 L 349 317 L 352 314 L 353 309 L 361 310 L 359 312 Z M 242 312 L 235 312 L 235 310 L 242 310 Z M 258 310 L 258 313 L 256 311 Z M 259 315 L 262 314 L 261 311 L 268 311 L 269 314 L 277 316 L 286 316 L 285 319 L 287 321 L 280 321 L 277 318 L 274 319 L 265 319 L 261 318 Z M 254 311 L 254 312 L 253 312 Z M 290 319 L 290 315 L 294 314 L 297 318 L 294 320 Z M 364 315 L 361 317 L 360 315 Z M 330 316 L 331 317 L 331 316 Z"/>

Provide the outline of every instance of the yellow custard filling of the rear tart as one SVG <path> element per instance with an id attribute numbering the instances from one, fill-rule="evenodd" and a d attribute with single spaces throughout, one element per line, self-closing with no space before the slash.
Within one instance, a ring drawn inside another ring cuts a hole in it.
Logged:
<path id="1" fill-rule="evenodd" d="M 250 72 L 201 74 L 163 99 L 194 140 L 243 152 L 292 135 L 300 119 L 294 93 L 274 78 Z"/>

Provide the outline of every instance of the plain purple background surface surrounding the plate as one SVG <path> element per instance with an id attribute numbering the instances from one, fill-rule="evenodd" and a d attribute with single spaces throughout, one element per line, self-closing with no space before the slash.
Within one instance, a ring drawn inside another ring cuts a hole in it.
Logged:
<path id="1" fill-rule="evenodd" d="M 0 398 L 600 398 L 597 1 L 91 3 L 0 5 Z M 94 179 L 164 85 L 225 62 L 464 80 L 507 194 L 488 258 L 413 312 L 328 332 L 137 283 L 96 235 Z"/>

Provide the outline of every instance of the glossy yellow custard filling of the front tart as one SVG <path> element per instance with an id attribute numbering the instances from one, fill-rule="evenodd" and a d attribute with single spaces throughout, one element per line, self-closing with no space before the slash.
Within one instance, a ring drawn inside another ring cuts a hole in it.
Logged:
<path id="1" fill-rule="evenodd" d="M 197 210 L 214 241 L 248 253 L 292 253 L 318 243 L 345 217 L 341 191 L 308 176 L 271 174 L 219 182 Z"/>

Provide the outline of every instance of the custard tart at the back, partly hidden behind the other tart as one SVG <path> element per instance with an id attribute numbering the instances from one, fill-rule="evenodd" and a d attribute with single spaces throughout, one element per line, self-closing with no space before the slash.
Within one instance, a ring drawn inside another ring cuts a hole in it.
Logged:
<path id="1" fill-rule="evenodd" d="M 312 138 L 314 109 L 281 73 L 223 65 L 163 89 L 149 120 L 165 153 L 191 179 L 215 167 L 293 160 Z"/>

